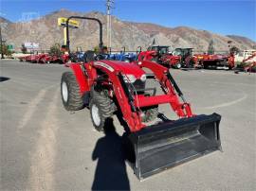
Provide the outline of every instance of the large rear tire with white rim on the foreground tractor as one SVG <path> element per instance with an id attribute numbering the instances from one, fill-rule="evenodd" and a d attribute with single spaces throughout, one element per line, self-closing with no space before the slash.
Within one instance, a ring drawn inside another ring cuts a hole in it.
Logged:
<path id="1" fill-rule="evenodd" d="M 63 74 L 61 93 L 65 110 L 78 111 L 83 108 L 80 87 L 72 72 L 65 72 Z"/>

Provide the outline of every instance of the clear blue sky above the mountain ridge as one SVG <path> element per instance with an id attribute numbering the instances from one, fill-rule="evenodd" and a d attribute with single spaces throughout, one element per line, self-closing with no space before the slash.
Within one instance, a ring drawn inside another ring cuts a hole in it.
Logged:
<path id="1" fill-rule="evenodd" d="M 105 0 L 0 0 L 0 16 L 15 22 L 23 12 L 40 16 L 58 9 L 105 12 Z M 190 26 L 256 41 L 255 0 L 115 0 L 113 14 L 121 20 L 161 26 Z"/>

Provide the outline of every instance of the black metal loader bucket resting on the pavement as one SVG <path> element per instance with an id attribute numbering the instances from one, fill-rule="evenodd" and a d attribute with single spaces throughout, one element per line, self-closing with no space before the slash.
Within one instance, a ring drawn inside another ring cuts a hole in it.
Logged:
<path id="1" fill-rule="evenodd" d="M 139 180 L 221 149 L 221 115 L 197 115 L 147 127 L 128 137 L 130 165 Z M 131 158 L 131 156 L 134 156 Z"/>

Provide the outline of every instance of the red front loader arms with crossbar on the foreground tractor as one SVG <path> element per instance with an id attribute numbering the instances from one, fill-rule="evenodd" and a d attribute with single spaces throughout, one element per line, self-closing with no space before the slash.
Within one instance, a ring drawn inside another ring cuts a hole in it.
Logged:
<path id="1" fill-rule="evenodd" d="M 182 92 L 179 90 L 174 78 L 168 69 L 152 61 L 142 61 L 141 67 L 149 68 L 155 74 L 155 78 L 161 84 L 165 95 L 160 96 L 135 96 L 132 95 L 124 82 L 122 71 L 119 70 L 111 61 L 95 61 L 93 67 L 100 69 L 108 75 L 109 81 L 113 86 L 113 91 L 119 102 L 119 108 L 123 114 L 124 120 L 127 122 L 130 130 L 137 131 L 145 128 L 145 124 L 141 122 L 140 108 L 151 107 L 159 104 L 169 103 L 180 118 L 192 117 L 190 104 L 183 98 Z M 95 77 L 95 80 L 97 77 Z M 184 103 L 179 101 L 177 94 L 182 97 Z"/>

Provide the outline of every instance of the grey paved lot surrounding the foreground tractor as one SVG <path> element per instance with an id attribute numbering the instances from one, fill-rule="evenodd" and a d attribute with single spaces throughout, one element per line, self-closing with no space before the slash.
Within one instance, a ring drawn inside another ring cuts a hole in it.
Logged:
<path id="1" fill-rule="evenodd" d="M 90 190 L 99 183 L 109 189 L 256 190 L 255 74 L 173 70 L 194 113 L 222 114 L 224 152 L 139 182 L 119 161 L 119 136 L 106 140 L 93 130 L 86 109 L 64 110 L 60 78 L 65 70 L 63 65 L 1 61 L 0 76 L 7 80 L 0 82 L 0 190 Z M 161 110 L 169 115 L 168 106 Z M 115 127 L 120 135 L 117 120 Z M 104 182 L 106 177 L 115 181 Z"/>

